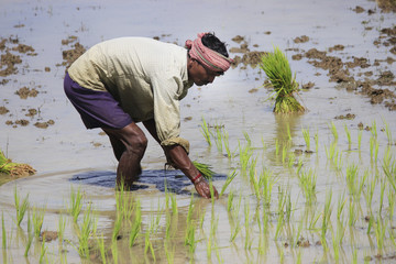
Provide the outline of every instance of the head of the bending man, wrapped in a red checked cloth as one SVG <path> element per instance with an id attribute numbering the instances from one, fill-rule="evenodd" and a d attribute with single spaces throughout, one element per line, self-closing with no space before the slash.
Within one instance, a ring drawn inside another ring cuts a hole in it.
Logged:
<path id="1" fill-rule="evenodd" d="M 200 33 L 195 41 L 186 41 L 186 47 L 188 79 L 197 86 L 212 82 L 229 69 L 232 62 L 224 43 L 211 33 Z"/>

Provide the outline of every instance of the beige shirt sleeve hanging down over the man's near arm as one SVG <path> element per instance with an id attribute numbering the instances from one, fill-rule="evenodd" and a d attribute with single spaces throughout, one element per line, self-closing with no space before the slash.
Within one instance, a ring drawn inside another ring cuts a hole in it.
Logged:
<path id="1" fill-rule="evenodd" d="M 151 78 L 154 96 L 154 120 L 161 145 L 182 145 L 189 152 L 189 143 L 180 138 L 180 103 L 184 86 L 176 75 L 162 74 Z"/>

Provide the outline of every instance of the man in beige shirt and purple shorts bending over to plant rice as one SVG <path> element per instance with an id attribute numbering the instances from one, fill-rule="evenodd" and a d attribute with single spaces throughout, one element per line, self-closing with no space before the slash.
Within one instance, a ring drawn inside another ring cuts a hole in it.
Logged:
<path id="1" fill-rule="evenodd" d="M 230 67 L 226 45 L 215 34 L 188 40 L 186 48 L 145 37 L 120 37 L 89 48 L 67 70 L 66 96 L 87 129 L 101 128 L 119 161 L 117 185 L 141 174 L 147 139 L 142 122 L 163 147 L 167 163 L 180 169 L 197 193 L 210 198 L 209 184 L 188 157 L 179 136 L 179 100 L 196 84 L 211 84 Z M 216 197 L 218 193 L 215 188 Z"/>

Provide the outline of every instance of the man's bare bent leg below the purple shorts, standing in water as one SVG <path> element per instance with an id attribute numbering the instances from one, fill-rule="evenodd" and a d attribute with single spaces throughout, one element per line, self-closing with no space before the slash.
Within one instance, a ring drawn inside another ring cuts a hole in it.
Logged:
<path id="1" fill-rule="evenodd" d="M 135 124 L 130 123 L 123 129 L 103 129 L 109 135 L 114 155 L 119 161 L 117 168 L 117 185 L 123 180 L 127 188 L 141 174 L 141 161 L 147 147 L 147 139 L 143 131 Z"/>

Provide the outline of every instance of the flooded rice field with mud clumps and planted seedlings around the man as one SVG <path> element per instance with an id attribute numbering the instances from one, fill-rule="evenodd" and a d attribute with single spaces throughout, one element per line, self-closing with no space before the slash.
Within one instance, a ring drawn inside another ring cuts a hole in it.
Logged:
<path id="1" fill-rule="evenodd" d="M 0 7 L 0 150 L 36 169 L 1 176 L 2 263 L 395 262 L 394 12 L 366 0 Z M 223 194 L 199 198 L 164 170 L 148 133 L 140 180 L 116 191 L 108 138 L 87 131 L 64 95 L 68 59 L 112 37 L 184 45 L 205 31 L 235 64 L 189 90 L 182 136 Z M 296 73 L 304 114 L 273 112 L 255 58 L 274 46 Z"/>

